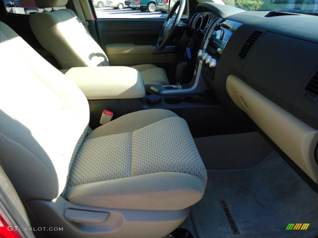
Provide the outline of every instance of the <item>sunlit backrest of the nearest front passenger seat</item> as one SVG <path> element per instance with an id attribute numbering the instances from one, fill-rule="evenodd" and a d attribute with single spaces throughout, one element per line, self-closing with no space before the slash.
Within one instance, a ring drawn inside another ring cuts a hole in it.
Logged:
<path id="1" fill-rule="evenodd" d="M 83 92 L 0 22 L 0 159 L 25 200 L 54 199 L 87 132 Z"/>

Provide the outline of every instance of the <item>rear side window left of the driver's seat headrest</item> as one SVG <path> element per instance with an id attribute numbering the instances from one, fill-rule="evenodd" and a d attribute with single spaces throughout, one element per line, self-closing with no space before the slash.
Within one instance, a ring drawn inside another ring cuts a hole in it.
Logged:
<path id="1" fill-rule="evenodd" d="M 39 9 L 34 0 L 3 0 L 5 8 L 9 13 L 31 15 L 37 12 L 42 12 L 44 9 Z M 54 8 L 55 10 L 65 7 Z M 45 10 L 52 10 L 52 8 L 46 8 Z"/>

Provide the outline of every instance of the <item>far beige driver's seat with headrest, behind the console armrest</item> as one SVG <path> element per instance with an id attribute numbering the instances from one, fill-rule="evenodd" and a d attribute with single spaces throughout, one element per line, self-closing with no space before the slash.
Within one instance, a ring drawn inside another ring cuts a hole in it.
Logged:
<path id="1" fill-rule="evenodd" d="M 65 6 L 67 0 L 36 0 L 39 8 Z M 105 52 L 95 42 L 79 17 L 70 9 L 45 11 L 33 14 L 30 25 L 39 43 L 59 62 L 62 69 L 86 66 L 108 66 Z M 146 88 L 151 85 L 168 85 L 164 69 L 152 64 L 136 65 L 142 73 Z"/>

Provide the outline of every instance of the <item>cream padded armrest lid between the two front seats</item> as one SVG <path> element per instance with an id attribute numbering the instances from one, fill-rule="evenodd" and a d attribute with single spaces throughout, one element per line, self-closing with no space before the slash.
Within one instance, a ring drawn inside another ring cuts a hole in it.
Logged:
<path id="1" fill-rule="evenodd" d="M 140 72 L 124 66 L 75 67 L 67 76 L 88 100 L 141 98 L 145 87 Z"/>

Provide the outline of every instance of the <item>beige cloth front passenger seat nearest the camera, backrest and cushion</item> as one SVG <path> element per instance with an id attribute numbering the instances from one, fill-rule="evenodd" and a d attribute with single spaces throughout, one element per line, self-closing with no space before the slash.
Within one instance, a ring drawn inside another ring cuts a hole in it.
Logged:
<path id="1" fill-rule="evenodd" d="M 134 210 L 129 219 L 147 215 L 150 222 L 154 211 L 161 217 L 164 211 L 170 212 L 168 217 L 171 211 L 180 214 L 203 196 L 206 169 L 186 122 L 175 113 L 134 112 L 87 134 L 89 107 L 83 92 L 2 22 L 0 68 L 0 158 L 26 201 L 45 201 L 63 217 L 66 205 L 59 206 L 55 199 L 64 197 L 94 209 Z M 121 210 L 108 212 L 114 217 Z M 153 226 L 173 223 L 168 217 L 167 223 Z M 61 224 L 55 219 L 45 222 Z M 164 225 L 162 234 L 178 222 Z M 72 227 L 70 232 L 76 230 Z M 126 230 L 118 232 L 126 235 L 120 237 L 141 237 L 142 230 L 123 227 Z M 156 237 L 149 235 L 154 227 L 147 237 Z"/>

